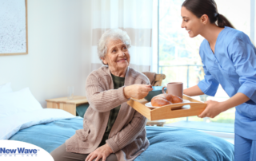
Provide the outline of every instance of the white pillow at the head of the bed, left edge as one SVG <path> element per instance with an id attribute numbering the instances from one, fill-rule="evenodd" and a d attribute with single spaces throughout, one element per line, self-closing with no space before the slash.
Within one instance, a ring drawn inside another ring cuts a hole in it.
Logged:
<path id="1" fill-rule="evenodd" d="M 29 88 L 0 95 L 0 118 L 38 109 L 42 109 L 42 106 L 31 94 Z"/>

